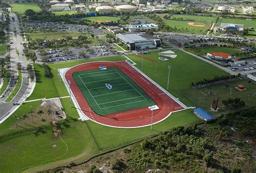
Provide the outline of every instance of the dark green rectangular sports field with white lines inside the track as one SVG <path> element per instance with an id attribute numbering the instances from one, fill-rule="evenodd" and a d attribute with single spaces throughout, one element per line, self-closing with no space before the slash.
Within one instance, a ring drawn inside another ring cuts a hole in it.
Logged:
<path id="1" fill-rule="evenodd" d="M 118 68 L 79 71 L 73 73 L 73 78 L 91 109 L 100 116 L 156 105 L 136 82 Z M 106 84 L 112 88 L 107 88 Z"/>

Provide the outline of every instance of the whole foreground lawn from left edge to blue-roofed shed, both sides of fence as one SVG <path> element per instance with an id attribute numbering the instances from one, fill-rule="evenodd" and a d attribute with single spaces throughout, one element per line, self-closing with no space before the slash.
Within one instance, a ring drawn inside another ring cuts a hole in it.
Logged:
<path id="1" fill-rule="evenodd" d="M 18 115 L 28 113 L 30 109 L 35 109 L 41 103 L 41 101 L 24 103 L 15 113 Z M 46 166 L 49 168 L 68 165 L 72 161 L 83 162 L 97 154 L 159 134 L 175 126 L 200 122 L 192 110 L 187 110 L 173 113 L 165 121 L 153 125 L 154 131 L 151 131 L 150 127 L 112 128 L 90 120 L 81 122 L 72 119 L 78 114 L 75 109 L 70 108 L 69 98 L 62 99 L 62 104 L 69 118 L 65 120 L 60 135 L 68 150 L 63 141 L 53 135 L 50 125 L 22 123 L 23 125 L 18 129 L 10 129 L 10 126 L 15 124 L 14 118 L 10 117 L 0 125 L 0 154 L 3 156 L 0 158 L 1 171 L 35 171 L 45 169 Z M 19 121 L 23 122 L 21 119 Z"/>

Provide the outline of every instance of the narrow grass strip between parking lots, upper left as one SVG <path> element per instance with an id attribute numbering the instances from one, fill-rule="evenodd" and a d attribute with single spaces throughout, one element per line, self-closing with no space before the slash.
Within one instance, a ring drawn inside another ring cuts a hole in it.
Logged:
<path id="1" fill-rule="evenodd" d="M 79 35 L 85 35 L 83 33 L 78 33 L 78 32 L 38 32 L 38 33 L 31 33 L 29 34 L 30 38 L 32 40 L 35 39 L 47 39 L 47 40 L 52 40 L 52 39 L 62 39 L 63 36 L 71 36 L 73 38 L 77 38 Z"/>

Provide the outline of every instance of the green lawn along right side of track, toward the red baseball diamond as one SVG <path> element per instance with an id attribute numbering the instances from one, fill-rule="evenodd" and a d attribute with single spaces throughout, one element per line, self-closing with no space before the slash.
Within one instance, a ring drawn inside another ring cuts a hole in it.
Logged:
<path id="1" fill-rule="evenodd" d="M 156 62 L 144 60 L 143 72 L 160 84 L 167 90 L 168 66 L 171 65 L 171 77 L 169 91 L 187 106 L 193 106 L 190 100 L 181 94 L 182 90 L 191 88 L 191 82 L 200 81 L 203 78 L 212 78 L 214 76 L 228 75 L 223 70 L 211 66 L 210 64 L 200 61 L 193 56 L 187 55 L 181 51 L 175 50 L 177 54 L 175 59 L 161 61 L 158 59 L 158 52 L 144 54 Z M 142 59 L 136 55 L 127 55 L 132 61 L 136 62 L 136 67 L 141 69 Z M 159 68 L 161 67 L 161 68 Z M 160 75 L 159 75 L 160 74 Z"/>

